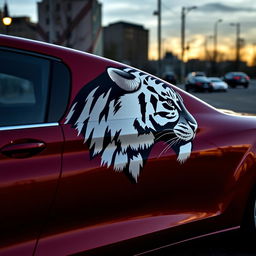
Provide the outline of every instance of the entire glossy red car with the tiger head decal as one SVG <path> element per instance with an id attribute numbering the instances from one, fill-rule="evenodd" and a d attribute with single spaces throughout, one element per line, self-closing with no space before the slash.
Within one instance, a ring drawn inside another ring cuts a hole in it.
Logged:
<path id="1" fill-rule="evenodd" d="M 255 231 L 255 118 L 87 53 L 3 35 L 0 51 L 0 255 Z"/>

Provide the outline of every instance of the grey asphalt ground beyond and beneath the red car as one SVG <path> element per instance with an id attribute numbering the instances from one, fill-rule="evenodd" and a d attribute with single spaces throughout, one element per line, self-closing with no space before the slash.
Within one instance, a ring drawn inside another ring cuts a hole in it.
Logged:
<path id="1" fill-rule="evenodd" d="M 178 87 L 184 89 L 183 85 Z M 251 81 L 248 89 L 238 87 L 227 92 L 192 94 L 216 108 L 256 115 L 256 80 Z M 166 248 L 159 255 L 252 256 L 256 255 L 256 245 L 243 240 L 239 231 L 229 231 Z"/>

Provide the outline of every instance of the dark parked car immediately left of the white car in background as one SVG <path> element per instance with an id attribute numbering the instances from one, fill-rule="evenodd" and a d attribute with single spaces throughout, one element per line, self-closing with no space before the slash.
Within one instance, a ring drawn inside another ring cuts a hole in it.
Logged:
<path id="1" fill-rule="evenodd" d="M 194 92 L 203 92 L 213 91 L 213 85 L 211 81 L 206 76 L 190 76 L 187 78 L 185 82 L 185 89 L 187 92 L 194 91 Z"/>

